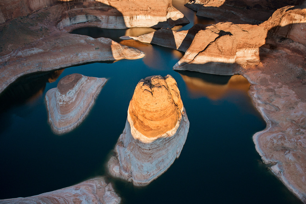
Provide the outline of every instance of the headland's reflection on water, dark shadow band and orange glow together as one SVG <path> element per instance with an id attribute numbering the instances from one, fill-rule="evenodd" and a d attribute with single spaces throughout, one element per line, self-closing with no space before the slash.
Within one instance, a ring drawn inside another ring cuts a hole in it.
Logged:
<path id="1" fill-rule="evenodd" d="M 179 73 L 193 98 L 208 97 L 211 100 L 220 100 L 233 90 L 247 93 L 250 87 L 248 80 L 241 75 L 222 77 L 191 71 Z M 213 78 L 218 78 L 219 81 L 212 82 Z"/>

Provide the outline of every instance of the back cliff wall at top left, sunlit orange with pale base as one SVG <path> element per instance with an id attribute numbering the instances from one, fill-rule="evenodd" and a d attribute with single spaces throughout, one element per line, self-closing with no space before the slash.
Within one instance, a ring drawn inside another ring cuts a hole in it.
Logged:
<path id="1" fill-rule="evenodd" d="M 27 1 L 13 0 L 0 3 L 0 23 L 27 16 L 47 7 L 64 9 L 57 18 L 58 28 L 63 29 L 73 24 L 84 22 L 104 28 L 127 27 L 174 27 L 189 23 L 188 19 L 172 6 L 171 0 L 129 1 L 129 0 L 81 0 L 81 1 Z"/>

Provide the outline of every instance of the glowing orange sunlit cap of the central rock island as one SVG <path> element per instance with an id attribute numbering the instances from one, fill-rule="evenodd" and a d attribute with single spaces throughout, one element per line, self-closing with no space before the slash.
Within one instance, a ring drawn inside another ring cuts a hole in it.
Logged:
<path id="1" fill-rule="evenodd" d="M 129 106 L 129 117 L 134 128 L 150 138 L 176 126 L 183 111 L 183 103 L 174 78 L 146 79 L 140 80 L 136 86 Z"/>

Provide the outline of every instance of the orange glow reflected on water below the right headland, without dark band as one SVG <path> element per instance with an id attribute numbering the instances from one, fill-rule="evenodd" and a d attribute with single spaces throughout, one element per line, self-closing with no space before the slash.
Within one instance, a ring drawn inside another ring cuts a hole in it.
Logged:
<path id="1" fill-rule="evenodd" d="M 250 83 L 241 75 L 233 75 L 226 84 L 207 82 L 202 78 L 190 77 L 181 74 L 192 97 L 208 97 L 211 100 L 220 100 L 227 93 L 236 90 L 247 93 Z"/>

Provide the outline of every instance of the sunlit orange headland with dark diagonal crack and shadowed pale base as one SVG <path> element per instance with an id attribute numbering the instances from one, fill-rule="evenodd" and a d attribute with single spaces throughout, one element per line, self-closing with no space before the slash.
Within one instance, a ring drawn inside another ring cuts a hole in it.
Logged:
<path id="1" fill-rule="evenodd" d="M 237 64 L 258 64 L 259 47 L 267 30 L 257 25 L 211 25 L 200 30 L 174 70 L 199 71 L 217 75 L 237 74 Z"/>

